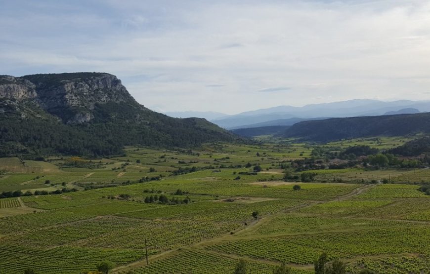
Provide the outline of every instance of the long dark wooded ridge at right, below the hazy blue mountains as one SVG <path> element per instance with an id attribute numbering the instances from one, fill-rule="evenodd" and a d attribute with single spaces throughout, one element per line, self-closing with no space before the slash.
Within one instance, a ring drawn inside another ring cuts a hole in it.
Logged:
<path id="1" fill-rule="evenodd" d="M 370 136 L 430 133 L 430 113 L 371 117 L 331 118 L 294 124 L 279 136 L 328 142 Z"/>

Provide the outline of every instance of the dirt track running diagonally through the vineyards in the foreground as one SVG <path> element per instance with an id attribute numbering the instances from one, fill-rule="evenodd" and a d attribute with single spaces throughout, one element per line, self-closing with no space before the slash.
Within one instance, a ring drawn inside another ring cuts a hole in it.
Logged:
<path id="1" fill-rule="evenodd" d="M 178 254 L 178 253 L 180 253 L 183 250 L 190 250 L 190 249 L 191 250 L 192 249 L 201 250 L 202 246 L 204 246 L 204 245 L 208 245 L 208 244 L 219 242 L 219 241 L 227 241 L 227 240 L 232 239 L 232 237 L 235 237 L 237 235 L 241 235 L 241 234 L 253 232 L 253 231 L 257 230 L 259 227 L 263 226 L 264 224 L 268 223 L 269 221 L 273 220 L 277 216 L 280 216 L 280 215 L 282 215 L 284 213 L 294 212 L 296 210 L 300 210 L 302 208 L 306 208 L 306 207 L 309 207 L 309 206 L 312 206 L 312 205 L 315 205 L 315 204 L 323 204 L 323 203 L 327 203 L 327 202 L 345 200 L 345 199 L 348 199 L 348 198 L 360 195 L 363 192 L 365 192 L 365 191 L 367 191 L 367 190 L 369 190 L 369 189 L 371 189 L 373 187 L 376 187 L 376 186 L 378 186 L 380 184 L 381 183 L 372 184 L 372 185 L 364 185 L 364 186 L 361 186 L 361 187 L 355 189 L 354 191 L 352 191 L 351 193 L 349 193 L 347 195 L 339 196 L 339 197 L 336 197 L 335 199 L 326 200 L 326 201 L 314 201 L 314 202 L 312 202 L 310 204 L 302 204 L 302 205 L 299 205 L 299 206 L 288 208 L 286 210 L 284 209 L 282 211 L 279 211 L 277 213 L 264 216 L 264 217 L 262 217 L 262 218 L 260 218 L 258 220 L 255 220 L 255 221 L 249 223 L 246 228 L 241 228 L 241 229 L 238 229 L 238 230 L 234 231 L 233 235 L 231 235 L 231 234 L 225 234 L 225 235 L 221 235 L 219 237 L 206 239 L 206 240 L 203 240 L 203 241 L 200 241 L 200 242 L 197 242 L 197 243 L 193 243 L 193 244 L 182 246 L 182 247 L 179 247 L 179 248 L 176 248 L 176 249 L 164 251 L 164 252 L 161 252 L 161 253 L 156 254 L 156 255 L 148 256 L 148 262 L 155 261 L 155 260 L 162 259 L 162 258 L 166 258 L 166 257 L 174 255 L 174 254 Z M 225 256 L 225 254 L 223 254 L 223 255 Z M 234 256 L 234 258 L 237 258 L 237 259 L 246 259 L 248 261 L 249 260 L 259 261 L 259 260 L 256 260 L 254 258 L 251 259 L 251 258 L 248 258 L 248 257 L 243 257 L 243 256 L 238 256 L 238 255 L 232 255 L 232 256 Z M 264 260 L 264 262 L 266 262 L 266 263 L 267 262 L 274 263 L 273 261 L 270 261 L 270 260 Z M 122 265 L 122 266 L 119 266 L 117 268 L 114 268 L 112 270 L 112 273 L 115 274 L 115 273 L 118 273 L 119 271 L 128 270 L 129 268 L 143 267 L 145 265 L 146 265 L 146 258 L 142 258 L 140 260 L 131 262 L 129 264 Z M 301 268 L 301 269 L 309 269 L 308 265 L 304 265 L 304 266 L 303 265 L 294 265 L 294 267 Z"/>

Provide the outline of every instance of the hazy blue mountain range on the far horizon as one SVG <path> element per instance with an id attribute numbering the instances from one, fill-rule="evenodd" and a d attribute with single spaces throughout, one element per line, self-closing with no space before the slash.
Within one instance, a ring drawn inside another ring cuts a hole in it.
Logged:
<path id="1" fill-rule="evenodd" d="M 414 108 L 421 112 L 430 111 L 430 101 L 400 100 L 383 102 L 378 100 L 358 99 L 343 102 L 311 104 L 303 107 L 278 106 L 244 112 L 237 115 L 211 120 L 215 124 L 227 128 L 244 128 L 255 123 L 289 118 L 317 118 L 317 117 L 358 117 L 380 116 L 387 112 Z M 265 124 L 274 125 L 274 124 Z"/>

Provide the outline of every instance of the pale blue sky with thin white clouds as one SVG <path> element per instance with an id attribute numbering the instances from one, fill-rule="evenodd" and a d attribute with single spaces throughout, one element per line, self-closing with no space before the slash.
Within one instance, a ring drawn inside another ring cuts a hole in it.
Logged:
<path id="1" fill-rule="evenodd" d="M 159 112 L 430 99 L 430 0 L 0 0 L 0 75 L 106 72 Z"/>

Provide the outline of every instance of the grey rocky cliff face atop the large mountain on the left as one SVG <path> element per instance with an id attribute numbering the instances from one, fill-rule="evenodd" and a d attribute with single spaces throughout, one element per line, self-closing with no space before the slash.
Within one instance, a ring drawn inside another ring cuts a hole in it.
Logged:
<path id="1" fill-rule="evenodd" d="M 37 74 L 20 78 L 0 77 L 0 98 L 32 100 L 65 123 L 93 119 L 95 104 L 137 104 L 121 80 L 107 73 Z"/>

